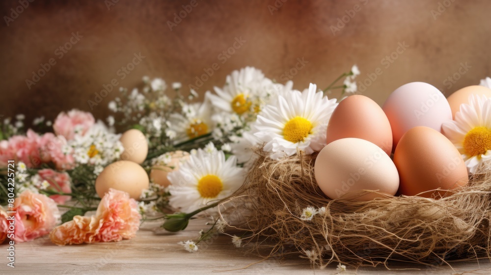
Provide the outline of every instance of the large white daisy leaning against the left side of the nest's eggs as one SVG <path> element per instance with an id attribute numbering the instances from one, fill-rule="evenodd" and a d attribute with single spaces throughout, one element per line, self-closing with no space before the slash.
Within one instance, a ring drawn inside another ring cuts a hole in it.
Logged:
<path id="1" fill-rule="evenodd" d="M 273 153 L 273 159 L 292 156 L 297 150 L 312 154 L 326 145 L 327 123 L 336 106 L 335 99 L 328 100 L 311 83 L 308 90 L 278 96 L 267 105 L 252 124 L 254 135 L 266 143 L 264 150 Z"/>

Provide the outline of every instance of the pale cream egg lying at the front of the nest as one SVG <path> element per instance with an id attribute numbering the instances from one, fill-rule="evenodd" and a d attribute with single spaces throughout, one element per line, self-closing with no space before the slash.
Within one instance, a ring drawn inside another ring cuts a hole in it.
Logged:
<path id="1" fill-rule="evenodd" d="M 319 188 L 329 198 L 368 201 L 394 195 L 399 174 L 390 157 L 377 145 L 360 138 L 341 138 L 327 144 L 314 164 Z M 371 190 L 379 193 L 360 191 Z"/>

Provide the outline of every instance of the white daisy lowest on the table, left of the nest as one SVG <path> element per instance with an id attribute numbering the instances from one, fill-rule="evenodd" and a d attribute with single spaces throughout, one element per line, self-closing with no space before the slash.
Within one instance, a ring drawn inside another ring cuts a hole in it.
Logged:
<path id="1" fill-rule="evenodd" d="M 190 213 L 208 202 L 235 192 L 244 181 L 243 168 L 237 167 L 232 156 L 225 160 L 223 151 L 208 153 L 198 149 L 190 159 L 167 176 L 172 185 L 169 205 L 181 212 Z M 210 212 L 216 211 L 210 209 Z"/>

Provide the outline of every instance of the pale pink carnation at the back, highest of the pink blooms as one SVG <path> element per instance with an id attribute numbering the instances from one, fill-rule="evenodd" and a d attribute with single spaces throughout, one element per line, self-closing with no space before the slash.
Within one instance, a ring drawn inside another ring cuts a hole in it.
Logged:
<path id="1" fill-rule="evenodd" d="M 56 135 L 71 140 L 76 134 L 85 135 L 94 123 L 95 119 L 91 113 L 73 109 L 68 113 L 60 112 L 55 119 L 53 129 Z"/>

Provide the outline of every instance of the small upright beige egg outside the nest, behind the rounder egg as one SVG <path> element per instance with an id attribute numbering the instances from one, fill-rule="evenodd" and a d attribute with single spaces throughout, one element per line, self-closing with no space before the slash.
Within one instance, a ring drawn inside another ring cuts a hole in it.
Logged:
<path id="1" fill-rule="evenodd" d="M 141 164 L 148 154 L 148 142 L 145 135 L 136 129 L 130 129 L 123 133 L 119 141 L 123 144 L 124 152 L 121 160 Z"/>

